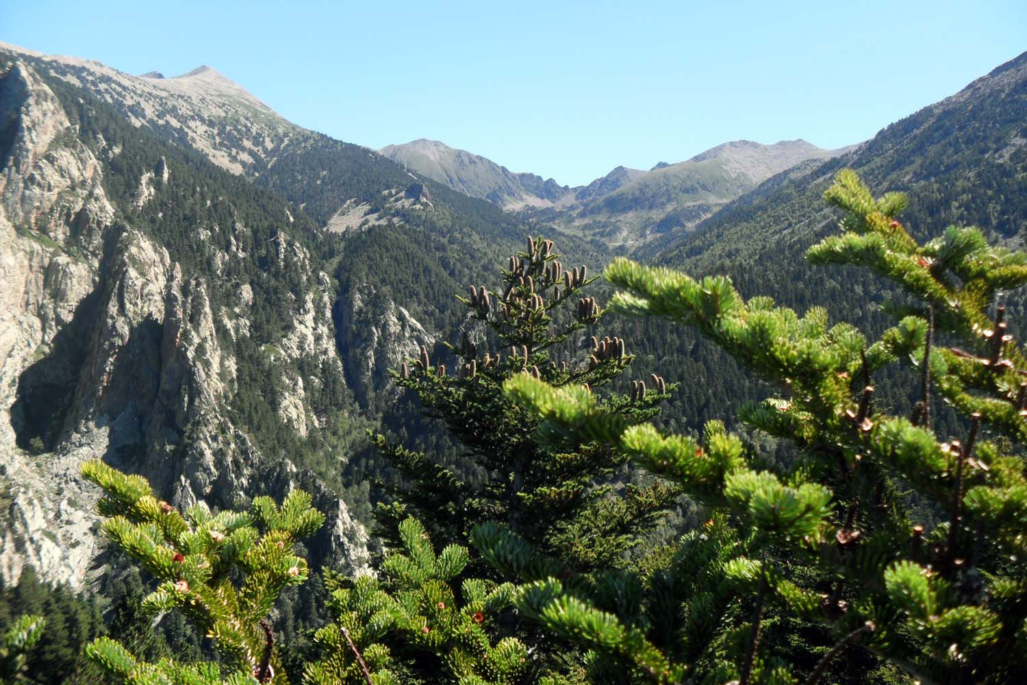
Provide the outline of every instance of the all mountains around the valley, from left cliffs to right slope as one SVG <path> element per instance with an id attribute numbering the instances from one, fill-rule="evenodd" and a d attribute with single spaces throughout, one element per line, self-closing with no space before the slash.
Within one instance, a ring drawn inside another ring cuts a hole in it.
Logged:
<path id="1" fill-rule="evenodd" d="M 1022 245 L 1025 121 L 1021 55 L 857 147 L 737 141 L 569 188 L 432 141 L 331 139 L 207 67 L 134 76 L 0 44 L 0 577 L 96 573 L 94 456 L 175 503 L 302 485 L 329 513 L 315 564 L 365 568 L 366 428 L 432 440 L 388 370 L 479 336 L 455 296 L 527 235 L 800 308 L 862 293 L 839 311 L 873 324 L 870 280 L 801 259 L 833 174 L 907 191 L 920 237 L 976 223 Z M 620 326 L 639 373 L 684 381 L 671 424 L 759 392 L 687 333 Z"/>

